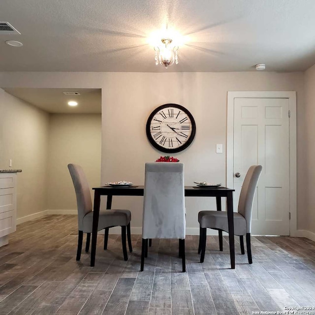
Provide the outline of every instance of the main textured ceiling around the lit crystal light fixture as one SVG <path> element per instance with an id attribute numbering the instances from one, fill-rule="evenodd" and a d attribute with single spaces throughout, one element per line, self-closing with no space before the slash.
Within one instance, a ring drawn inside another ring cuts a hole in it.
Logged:
<path id="1" fill-rule="evenodd" d="M 0 71 L 305 70 L 314 12 L 314 0 L 1 0 L 0 21 L 21 35 L 0 35 Z M 166 24 L 187 35 L 168 69 L 148 44 Z"/>

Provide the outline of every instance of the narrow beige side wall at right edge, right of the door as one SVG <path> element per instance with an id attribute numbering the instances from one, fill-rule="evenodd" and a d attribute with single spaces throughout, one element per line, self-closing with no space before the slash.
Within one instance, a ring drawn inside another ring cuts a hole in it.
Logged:
<path id="1" fill-rule="evenodd" d="M 305 113 L 306 128 L 303 154 L 305 207 L 301 216 L 305 218 L 304 229 L 315 233 L 315 65 L 305 72 Z"/>

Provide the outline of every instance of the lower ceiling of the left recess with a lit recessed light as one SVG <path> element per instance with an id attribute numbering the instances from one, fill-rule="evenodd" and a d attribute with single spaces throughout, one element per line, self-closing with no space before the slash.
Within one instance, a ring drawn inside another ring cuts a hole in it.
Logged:
<path id="1" fill-rule="evenodd" d="M 4 88 L 3 90 L 48 113 L 101 113 L 100 89 Z M 63 92 L 79 92 L 80 95 L 64 95 Z M 67 103 L 70 100 L 78 102 L 78 105 L 75 107 L 69 106 Z"/>

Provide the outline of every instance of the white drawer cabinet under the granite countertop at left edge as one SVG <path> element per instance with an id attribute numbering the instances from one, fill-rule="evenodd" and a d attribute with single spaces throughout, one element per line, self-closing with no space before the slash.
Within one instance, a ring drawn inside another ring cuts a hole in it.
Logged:
<path id="1" fill-rule="evenodd" d="M 17 173 L 0 173 L 0 246 L 8 244 L 8 234 L 16 230 Z"/>

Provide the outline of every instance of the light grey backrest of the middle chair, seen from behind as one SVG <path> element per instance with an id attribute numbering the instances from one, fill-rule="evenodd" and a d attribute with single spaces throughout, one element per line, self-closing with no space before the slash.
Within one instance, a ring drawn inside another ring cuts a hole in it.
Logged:
<path id="1" fill-rule="evenodd" d="M 184 164 L 145 165 L 142 238 L 185 239 Z"/>

